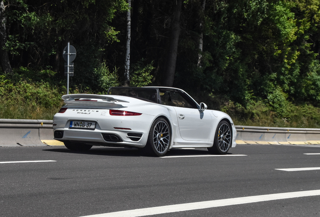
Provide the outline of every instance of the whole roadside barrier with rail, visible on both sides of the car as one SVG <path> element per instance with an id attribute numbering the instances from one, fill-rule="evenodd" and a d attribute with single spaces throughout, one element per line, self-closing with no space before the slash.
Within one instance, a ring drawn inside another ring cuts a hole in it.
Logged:
<path id="1" fill-rule="evenodd" d="M 320 144 L 320 129 L 235 126 L 237 144 Z M 0 119 L 0 146 L 63 145 L 52 120 Z"/>

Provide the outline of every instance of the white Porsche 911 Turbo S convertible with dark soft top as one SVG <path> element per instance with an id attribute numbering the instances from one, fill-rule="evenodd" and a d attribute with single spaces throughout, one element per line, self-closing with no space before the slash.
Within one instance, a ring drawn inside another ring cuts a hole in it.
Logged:
<path id="1" fill-rule="evenodd" d="M 153 156 L 170 149 L 205 147 L 226 154 L 235 147 L 231 118 L 208 110 L 171 87 L 111 87 L 107 95 L 63 95 L 53 118 L 54 139 L 74 151 L 92 146 L 135 147 Z"/>

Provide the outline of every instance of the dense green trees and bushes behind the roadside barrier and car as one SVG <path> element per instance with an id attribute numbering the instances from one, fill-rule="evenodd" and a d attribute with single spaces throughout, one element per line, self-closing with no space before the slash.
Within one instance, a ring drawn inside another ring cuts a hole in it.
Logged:
<path id="1" fill-rule="evenodd" d="M 72 93 L 124 84 L 125 0 L 2 2 L 14 70 L 0 72 L 0 118 L 40 119 L 33 111 L 60 106 L 67 42 L 77 50 Z M 132 1 L 131 85 L 163 84 L 176 3 Z M 180 28 L 173 86 L 238 125 L 319 127 L 318 0 L 186 0 Z"/>

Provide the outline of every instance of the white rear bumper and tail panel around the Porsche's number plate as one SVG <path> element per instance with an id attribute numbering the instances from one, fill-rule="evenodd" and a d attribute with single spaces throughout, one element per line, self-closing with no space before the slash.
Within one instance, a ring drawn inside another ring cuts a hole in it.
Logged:
<path id="1" fill-rule="evenodd" d="M 143 114 L 128 117 L 110 116 L 109 110 L 102 109 L 80 115 L 73 108 L 68 108 L 65 114 L 57 113 L 53 117 L 54 139 L 99 146 L 143 148 L 154 119 L 154 116 Z M 95 129 L 71 128 L 70 121 L 95 122 L 96 126 Z"/>

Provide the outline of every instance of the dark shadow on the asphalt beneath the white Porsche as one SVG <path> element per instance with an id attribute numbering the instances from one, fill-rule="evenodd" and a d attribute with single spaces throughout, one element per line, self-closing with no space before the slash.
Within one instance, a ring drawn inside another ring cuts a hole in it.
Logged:
<path id="1" fill-rule="evenodd" d="M 112 148 L 112 147 L 93 147 L 89 151 L 71 151 L 64 147 L 43 149 L 43 151 L 69 153 L 69 154 L 85 154 L 85 155 L 102 155 L 102 156 L 123 156 L 123 157 L 150 157 L 137 148 Z M 232 153 L 227 153 L 232 155 Z M 195 155 L 211 155 L 206 148 L 196 149 L 172 149 L 166 156 L 195 156 Z"/>

